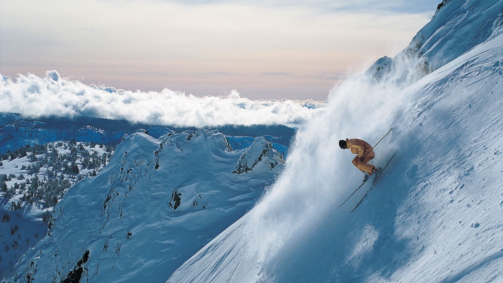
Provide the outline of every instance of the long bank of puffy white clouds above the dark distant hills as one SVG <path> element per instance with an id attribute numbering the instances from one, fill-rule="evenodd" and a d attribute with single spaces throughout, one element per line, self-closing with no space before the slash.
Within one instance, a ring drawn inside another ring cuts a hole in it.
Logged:
<path id="1" fill-rule="evenodd" d="M 88 116 L 191 127 L 226 124 L 300 127 L 327 105 L 325 101 L 312 100 L 249 100 L 240 97 L 236 90 L 226 97 L 196 97 L 169 89 L 125 91 L 61 78 L 55 70 L 47 71 L 44 78 L 32 74 L 19 75 L 17 79 L 2 75 L 0 78 L 0 111 L 35 118 Z"/>

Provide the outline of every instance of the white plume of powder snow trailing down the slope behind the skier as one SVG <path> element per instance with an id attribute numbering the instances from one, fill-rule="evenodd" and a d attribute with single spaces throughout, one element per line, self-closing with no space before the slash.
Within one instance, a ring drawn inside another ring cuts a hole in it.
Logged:
<path id="1" fill-rule="evenodd" d="M 400 89 L 369 82 L 369 77 L 360 76 L 339 86 L 326 111 L 297 131 L 285 170 L 261 202 L 184 263 L 168 282 L 274 281 L 263 276 L 269 276 L 267 268 L 281 259 L 278 254 L 285 245 L 303 245 L 297 239 L 336 217 L 331 209 L 351 194 L 355 180 L 363 179 L 351 164 L 354 155 L 341 150 L 339 140 L 357 137 L 373 145 L 395 123 L 393 113 L 403 105 Z M 370 95 L 376 99 L 370 100 Z M 379 145 L 375 164 L 396 149 L 389 137 Z"/>

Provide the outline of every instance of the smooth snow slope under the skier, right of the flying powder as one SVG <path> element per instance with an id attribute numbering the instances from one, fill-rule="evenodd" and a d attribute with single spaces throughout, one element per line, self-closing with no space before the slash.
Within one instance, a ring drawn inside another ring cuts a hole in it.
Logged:
<path id="1" fill-rule="evenodd" d="M 395 124 L 401 133 L 394 146 L 400 151 L 391 170 L 353 214 L 347 211 L 362 193 L 331 210 L 316 232 L 285 246 L 279 260 L 264 268 L 264 277 L 280 282 L 503 280 L 503 161 L 498 158 L 503 69 L 497 64 L 502 46 L 499 36 L 405 89 L 424 96 L 398 116 L 405 121 Z M 332 235 L 328 241 L 326 235 Z M 316 244 L 293 248 L 300 243 Z"/>

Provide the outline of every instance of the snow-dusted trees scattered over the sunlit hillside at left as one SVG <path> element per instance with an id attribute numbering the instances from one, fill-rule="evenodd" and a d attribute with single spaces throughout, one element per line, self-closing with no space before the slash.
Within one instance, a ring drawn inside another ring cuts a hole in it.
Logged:
<path id="1" fill-rule="evenodd" d="M 94 146 L 94 147 L 91 147 Z M 0 174 L 0 192 L 9 201 L 16 195 L 18 202 L 13 202 L 12 209 L 22 207 L 22 202 L 53 207 L 63 197 L 66 190 L 75 182 L 87 176 L 96 176 L 112 157 L 113 148 L 96 143 L 77 143 L 75 140 L 63 143 L 49 143 L 43 146 L 26 146 L 0 156 L 6 159 L 25 157 L 31 164 L 21 165 L 25 174 Z M 17 168 L 17 167 L 16 167 Z M 14 184 L 11 182 L 16 180 Z M 7 182 L 10 182 L 8 185 Z M 0 194 L 0 197 L 2 195 Z"/>

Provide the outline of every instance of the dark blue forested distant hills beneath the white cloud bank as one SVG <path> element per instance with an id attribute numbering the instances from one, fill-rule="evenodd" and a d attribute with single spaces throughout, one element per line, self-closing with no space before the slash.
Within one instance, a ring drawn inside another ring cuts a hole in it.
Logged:
<path id="1" fill-rule="evenodd" d="M 46 144 L 55 140 L 79 140 L 116 146 L 124 133 L 143 128 L 158 137 L 169 132 L 183 132 L 195 128 L 166 127 L 132 124 L 125 120 L 109 120 L 89 117 L 39 117 L 38 120 L 17 113 L 0 112 L 0 154 L 21 146 Z M 256 136 L 264 136 L 275 149 L 286 156 L 295 129 L 283 125 L 225 125 L 217 128 L 224 133 L 233 149 L 247 148 Z"/>

